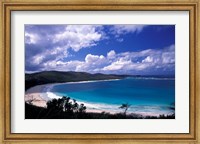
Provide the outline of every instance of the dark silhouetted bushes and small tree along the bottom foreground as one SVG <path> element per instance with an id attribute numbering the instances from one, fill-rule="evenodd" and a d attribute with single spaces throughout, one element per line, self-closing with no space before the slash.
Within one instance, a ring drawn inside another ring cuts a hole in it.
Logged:
<path id="1" fill-rule="evenodd" d="M 47 102 L 47 108 L 37 107 L 30 103 L 25 103 L 25 119 L 174 119 L 175 114 L 156 116 L 142 116 L 138 114 L 126 114 L 129 104 L 122 104 L 119 108 L 125 110 L 124 113 L 110 114 L 88 113 L 84 104 L 78 104 L 76 100 L 69 97 L 52 99 Z"/>

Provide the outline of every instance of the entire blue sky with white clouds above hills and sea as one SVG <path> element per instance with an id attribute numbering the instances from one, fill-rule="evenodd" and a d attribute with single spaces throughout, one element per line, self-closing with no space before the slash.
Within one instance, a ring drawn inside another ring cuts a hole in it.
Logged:
<path id="1" fill-rule="evenodd" d="M 175 75 L 175 25 L 25 25 L 25 72 Z"/>

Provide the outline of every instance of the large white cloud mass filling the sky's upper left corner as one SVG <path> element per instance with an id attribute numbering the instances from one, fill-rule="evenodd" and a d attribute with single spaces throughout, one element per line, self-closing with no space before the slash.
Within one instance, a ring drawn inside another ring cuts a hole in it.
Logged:
<path id="1" fill-rule="evenodd" d="M 101 25 L 27 25 L 25 27 L 26 69 L 55 67 L 69 56 L 69 49 L 78 52 L 90 48 L 105 35 Z"/>

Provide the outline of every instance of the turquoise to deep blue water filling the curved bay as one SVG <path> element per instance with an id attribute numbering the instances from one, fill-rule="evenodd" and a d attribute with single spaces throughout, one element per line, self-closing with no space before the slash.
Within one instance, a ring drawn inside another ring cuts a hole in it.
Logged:
<path id="1" fill-rule="evenodd" d="M 50 90 L 84 103 L 115 109 L 122 103 L 132 105 L 136 112 L 171 112 L 175 102 L 175 80 L 171 78 L 126 78 L 111 81 L 57 84 Z M 91 105 L 89 105 L 92 107 Z M 107 106 L 107 107 L 106 107 Z M 143 109 L 143 110 L 142 110 Z"/>

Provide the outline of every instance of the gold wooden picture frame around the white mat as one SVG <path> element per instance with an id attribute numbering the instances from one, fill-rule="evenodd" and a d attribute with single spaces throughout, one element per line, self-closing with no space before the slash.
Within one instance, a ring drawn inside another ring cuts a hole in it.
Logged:
<path id="1" fill-rule="evenodd" d="M 200 143 L 199 0 L 2 0 L 0 45 L 0 143 Z M 188 134 L 12 134 L 11 133 L 11 11 L 138 10 L 189 11 L 190 23 L 190 132 Z"/>

